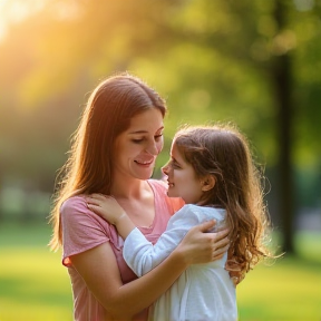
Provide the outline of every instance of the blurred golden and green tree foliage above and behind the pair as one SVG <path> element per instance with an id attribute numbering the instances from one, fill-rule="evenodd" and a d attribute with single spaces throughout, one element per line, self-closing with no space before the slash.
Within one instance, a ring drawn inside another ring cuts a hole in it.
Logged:
<path id="1" fill-rule="evenodd" d="M 319 13 L 304 0 L 43 2 L 0 42 L 0 184 L 52 192 L 88 93 L 124 70 L 167 99 L 168 145 L 182 124 L 233 121 L 274 167 L 280 55 L 292 66 L 292 163 L 320 172 Z"/>

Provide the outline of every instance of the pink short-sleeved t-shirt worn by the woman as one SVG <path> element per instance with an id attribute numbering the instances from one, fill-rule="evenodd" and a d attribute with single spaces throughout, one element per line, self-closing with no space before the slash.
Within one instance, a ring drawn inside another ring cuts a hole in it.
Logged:
<path id="1" fill-rule="evenodd" d="M 169 217 L 182 207 L 183 201 L 169 198 L 163 183 L 148 181 L 155 202 L 155 217 L 152 226 L 139 227 L 146 239 L 156 243 L 166 230 Z M 123 259 L 124 241 L 114 225 L 88 210 L 84 196 L 67 200 L 60 210 L 62 225 L 62 264 L 68 268 L 74 294 L 74 317 L 76 321 L 107 321 L 103 305 L 88 290 L 81 275 L 72 268 L 69 256 L 85 252 L 109 242 L 115 253 L 123 283 L 128 283 L 137 276 Z M 106 284 L 108 286 L 108 284 Z M 133 320 L 147 320 L 147 309 L 138 313 Z"/>

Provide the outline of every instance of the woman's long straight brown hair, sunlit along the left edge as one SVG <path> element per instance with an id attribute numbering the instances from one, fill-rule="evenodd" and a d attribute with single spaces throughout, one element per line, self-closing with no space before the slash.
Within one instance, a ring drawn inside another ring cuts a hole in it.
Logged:
<path id="1" fill-rule="evenodd" d="M 166 114 L 165 100 L 142 79 L 119 74 L 101 81 L 91 93 L 71 140 L 69 158 L 60 169 L 50 222 L 49 243 L 58 250 L 62 242 L 60 206 L 79 194 L 110 194 L 114 142 L 130 126 L 130 119 L 149 108 Z"/>

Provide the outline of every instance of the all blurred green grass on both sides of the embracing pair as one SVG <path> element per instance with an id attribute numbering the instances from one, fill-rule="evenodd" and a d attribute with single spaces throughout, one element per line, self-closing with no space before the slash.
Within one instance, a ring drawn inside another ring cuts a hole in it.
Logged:
<path id="1" fill-rule="evenodd" d="M 61 253 L 47 247 L 48 226 L 0 226 L 0 321 L 71 321 Z M 237 286 L 240 321 L 321 320 L 321 234 L 298 234 L 300 257 L 251 271 Z"/>

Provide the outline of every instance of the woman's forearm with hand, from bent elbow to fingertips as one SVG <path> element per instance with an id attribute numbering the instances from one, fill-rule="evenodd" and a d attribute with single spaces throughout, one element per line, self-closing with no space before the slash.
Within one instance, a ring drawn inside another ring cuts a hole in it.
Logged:
<path id="1" fill-rule="evenodd" d="M 221 259 L 228 247 L 226 239 L 228 231 L 204 233 L 211 227 L 213 227 L 213 222 L 194 226 L 159 265 L 142 278 L 119 286 L 115 304 L 113 304 L 115 310 L 124 311 L 125 309 L 126 313 L 135 315 L 165 293 L 191 264 Z"/>

